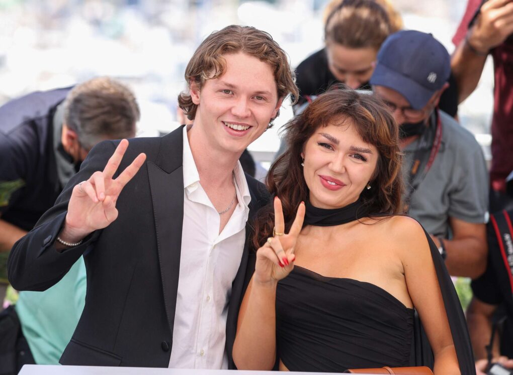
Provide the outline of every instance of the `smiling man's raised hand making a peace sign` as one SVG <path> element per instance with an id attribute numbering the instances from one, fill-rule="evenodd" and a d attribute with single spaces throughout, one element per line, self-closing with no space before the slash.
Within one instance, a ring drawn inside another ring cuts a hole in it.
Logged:
<path id="1" fill-rule="evenodd" d="M 127 148 L 128 141 L 121 140 L 102 172 L 97 171 L 88 180 L 74 186 L 60 236 L 62 239 L 77 242 L 117 218 L 117 198 L 146 160 L 145 154 L 139 154 L 117 178 L 112 178 Z"/>

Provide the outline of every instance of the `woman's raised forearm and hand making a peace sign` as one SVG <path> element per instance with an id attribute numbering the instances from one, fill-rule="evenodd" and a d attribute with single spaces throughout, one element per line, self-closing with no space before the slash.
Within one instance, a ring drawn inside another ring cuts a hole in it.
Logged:
<path id="1" fill-rule="evenodd" d="M 303 226 L 305 205 L 285 235 L 268 240 L 257 251 L 255 272 L 239 311 L 233 362 L 239 370 L 271 370 L 276 361 L 276 288 L 294 266 L 294 246 Z M 285 232 L 280 199 L 274 199 L 276 233 Z"/>

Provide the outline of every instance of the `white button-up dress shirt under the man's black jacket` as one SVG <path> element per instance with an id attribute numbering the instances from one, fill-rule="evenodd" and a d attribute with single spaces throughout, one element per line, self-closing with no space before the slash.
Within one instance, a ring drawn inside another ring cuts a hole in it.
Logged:
<path id="1" fill-rule="evenodd" d="M 184 127 L 184 221 L 171 368 L 227 369 L 226 318 L 246 238 L 249 189 L 238 162 L 238 204 L 219 233 L 220 215 L 200 183 Z"/>

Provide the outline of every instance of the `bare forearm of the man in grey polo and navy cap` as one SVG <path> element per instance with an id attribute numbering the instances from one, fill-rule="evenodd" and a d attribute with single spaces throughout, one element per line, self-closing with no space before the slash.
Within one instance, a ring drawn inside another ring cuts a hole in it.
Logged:
<path id="1" fill-rule="evenodd" d="M 444 239 L 446 250 L 445 265 L 452 276 L 464 276 L 475 279 L 486 268 L 486 225 L 474 224 L 449 217 L 452 239 Z M 440 240 L 431 236 L 440 247 Z"/>

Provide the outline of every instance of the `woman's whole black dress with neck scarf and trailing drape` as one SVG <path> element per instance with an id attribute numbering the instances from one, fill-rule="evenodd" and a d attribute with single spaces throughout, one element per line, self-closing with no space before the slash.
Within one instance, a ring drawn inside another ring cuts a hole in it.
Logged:
<path id="1" fill-rule="evenodd" d="M 306 202 L 304 225 L 331 226 L 366 216 L 362 202 L 324 210 Z M 435 243 L 429 242 L 462 375 L 475 375 L 460 301 Z M 420 320 L 384 289 L 352 279 L 324 277 L 295 266 L 278 283 L 278 358 L 291 371 L 428 366 L 434 358 Z"/>

